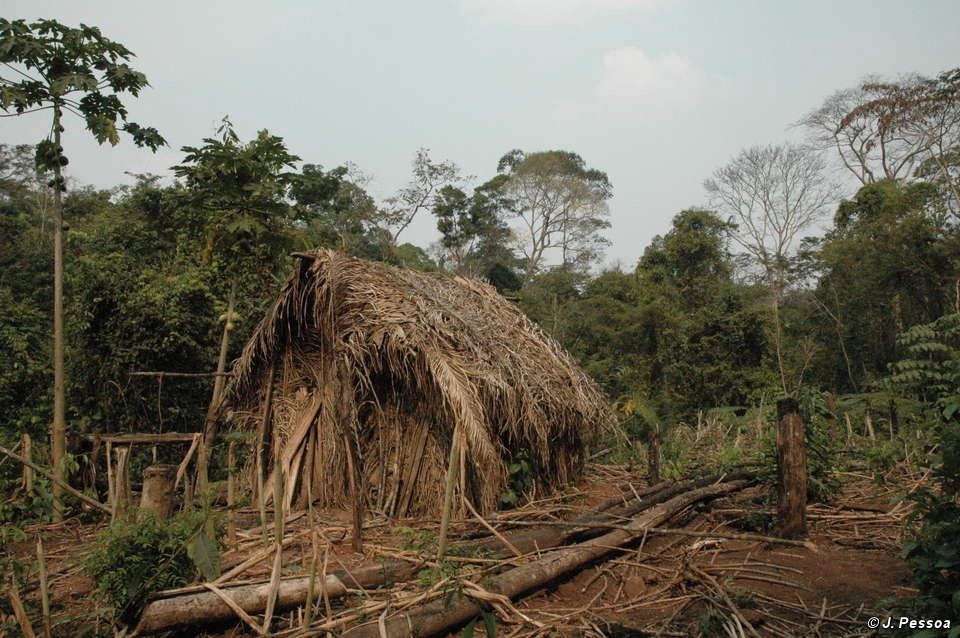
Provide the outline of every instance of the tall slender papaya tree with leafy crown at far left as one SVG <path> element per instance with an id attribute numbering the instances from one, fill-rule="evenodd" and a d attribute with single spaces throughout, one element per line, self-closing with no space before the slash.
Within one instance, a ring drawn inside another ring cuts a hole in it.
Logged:
<path id="1" fill-rule="evenodd" d="M 66 451 L 66 396 L 63 345 L 63 169 L 68 160 L 62 135 L 68 114 L 83 119 L 86 128 L 103 144 L 116 145 L 119 133 L 129 134 L 137 146 L 156 150 L 165 144 L 156 129 L 127 120 L 120 96 L 137 97 L 148 86 L 143 73 L 127 62 L 133 53 L 113 42 L 96 27 L 65 26 L 55 20 L 0 18 L 0 109 L 3 117 L 49 111 L 50 132 L 37 144 L 36 163 L 53 174 L 53 419 L 50 439 L 54 473 L 63 481 Z M 61 483 L 55 482 L 54 512 L 63 512 Z"/>

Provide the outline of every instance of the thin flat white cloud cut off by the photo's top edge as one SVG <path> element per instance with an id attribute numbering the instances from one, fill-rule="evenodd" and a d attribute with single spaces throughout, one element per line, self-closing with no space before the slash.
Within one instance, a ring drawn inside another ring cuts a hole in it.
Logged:
<path id="1" fill-rule="evenodd" d="M 520 26 L 570 25 L 602 15 L 648 11 L 666 0 L 465 0 L 467 11 Z"/>

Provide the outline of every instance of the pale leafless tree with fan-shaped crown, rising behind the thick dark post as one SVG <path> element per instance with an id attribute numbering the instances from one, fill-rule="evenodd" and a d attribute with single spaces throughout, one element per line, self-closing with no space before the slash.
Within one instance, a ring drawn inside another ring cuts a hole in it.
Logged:
<path id="1" fill-rule="evenodd" d="M 777 365 L 786 392 L 780 307 L 790 258 L 800 234 L 835 204 L 837 189 L 826 177 L 822 155 L 794 144 L 748 148 L 717 169 L 704 187 L 711 205 L 736 224 L 731 238 L 753 258 L 769 286 Z"/>

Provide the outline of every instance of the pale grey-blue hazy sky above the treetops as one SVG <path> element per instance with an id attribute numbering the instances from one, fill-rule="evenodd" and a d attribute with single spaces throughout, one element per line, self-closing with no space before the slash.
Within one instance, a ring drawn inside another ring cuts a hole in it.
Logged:
<path id="1" fill-rule="evenodd" d="M 703 180 L 864 76 L 960 65 L 960 2 L 887 0 L 5 0 L 8 19 L 100 27 L 151 88 L 130 119 L 169 147 L 100 148 L 79 121 L 64 146 L 77 182 L 168 174 L 229 115 L 242 139 L 282 136 L 303 161 L 353 162 L 384 198 L 418 148 L 480 183 L 511 149 L 563 149 L 608 174 L 611 246 L 631 268 Z M 36 143 L 46 114 L 0 119 Z M 423 215 L 402 236 L 437 236 Z"/>

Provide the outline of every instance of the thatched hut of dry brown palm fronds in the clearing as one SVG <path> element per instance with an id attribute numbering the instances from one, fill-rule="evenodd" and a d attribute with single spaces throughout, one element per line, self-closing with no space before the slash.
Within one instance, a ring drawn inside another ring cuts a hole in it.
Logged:
<path id="1" fill-rule="evenodd" d="M 489 511 L 511 459 L 525 455 L 533 489 L 549 491 L 613 425 L 596 384 L 491 286 L 299 257 L 228 388 L 234 419 L 266 442 L 268 497 L 279 459 L 288 506 L 349 505 L 355 469 L 372 509 L 437 514 L 456 438 L 457 492 Z"/>

